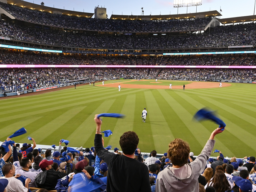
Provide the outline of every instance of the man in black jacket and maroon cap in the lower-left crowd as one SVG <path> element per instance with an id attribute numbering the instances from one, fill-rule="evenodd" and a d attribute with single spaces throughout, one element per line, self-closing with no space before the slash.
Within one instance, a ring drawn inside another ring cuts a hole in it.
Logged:
<path id="1" fill-rule="evenodd" d="M 67 172 L 59 172 L 52 169 L 52 160 L 42 160 L 39 163 L 40 169 L 43 172 L 40 172 L 36 177 L 35 181 L 39 188 L 44 188 L 47 190 L 55 190 L 55 186 L 57 185 L 58 179 L 65 177 L 66 175 L 70 174 L 71 167 L 70 167 L 70 160 L 66 161 L 67 163 Z"/>

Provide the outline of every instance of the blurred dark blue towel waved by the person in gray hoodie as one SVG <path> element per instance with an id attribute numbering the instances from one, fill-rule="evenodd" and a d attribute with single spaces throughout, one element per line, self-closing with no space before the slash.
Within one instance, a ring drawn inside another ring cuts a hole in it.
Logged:
<path id="1" fill-rule="evenodd" d="M 200 109 L 197 113 L 195 113 L 194 118 L 198 121 L 202 121 L 204 119 L 210 119 L 219 125 L 219 128 L 222 128 L 221 131 L 224 131 L 226 124 L 219 119 L 213 111 L 208 111 L 206 108 Z"/>

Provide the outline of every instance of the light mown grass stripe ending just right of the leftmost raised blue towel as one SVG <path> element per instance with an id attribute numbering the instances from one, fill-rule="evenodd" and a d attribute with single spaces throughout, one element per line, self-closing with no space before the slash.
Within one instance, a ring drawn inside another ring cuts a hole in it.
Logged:
<path id="1" fill-rule="evenodd" d="M 41 128 L 38 128 L 36 131 L 33 131 L 30 134 L 30 137 L 33 137 L 38 143 L 40 143 L 42 140 L 47 138 L 52 132 L 54 132 L 56 129 L 64 125 L 68 120 L 70 120 L 73 116 L 75 116 L 77 113 L 82 111 L 86 106 L 76 106 L 71 108 L 70 110 L 66 111 L 65 113 L 61 114 L 54 120 L 48 122 L 46 125 L 44 125 Z M 26 137 L 21 140 L 21 142 L 25 142 Z"/>

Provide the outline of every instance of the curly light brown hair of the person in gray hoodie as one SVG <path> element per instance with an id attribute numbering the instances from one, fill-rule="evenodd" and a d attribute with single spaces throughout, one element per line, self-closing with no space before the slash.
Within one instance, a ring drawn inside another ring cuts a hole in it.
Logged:
<path id="1" fill-rule="evenodd" d="M 183 166 L 188 163 L 189 144 L 181 139 L 175 139 L 169 144 L 168 157 L 175 166 Z"/>

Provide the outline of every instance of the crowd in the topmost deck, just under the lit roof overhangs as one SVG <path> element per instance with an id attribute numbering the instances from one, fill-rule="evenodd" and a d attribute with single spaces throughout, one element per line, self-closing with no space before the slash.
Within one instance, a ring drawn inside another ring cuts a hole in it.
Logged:
<path id="1" fill-rule="evenodd" d="M 211 17 L 188 20 L 113 20 L 93 19 L 85 17 L 70 17 L 67 15 L 51 14 L 32 9 L 0 3 L 0 6 L 13 15 L 17 20 L 56 26 L 65 29 L 83 29 L 108 32 L 179 32 L 201 31 L 211 20 Z M 166 18 L 167 19 L 167 18 Z"/>

